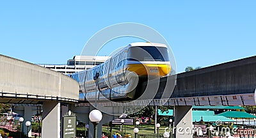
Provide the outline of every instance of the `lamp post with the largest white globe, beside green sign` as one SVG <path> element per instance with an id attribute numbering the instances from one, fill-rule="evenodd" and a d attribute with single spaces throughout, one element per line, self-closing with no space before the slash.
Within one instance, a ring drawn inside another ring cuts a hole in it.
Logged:
<path id="1" fill-rule="evenodd" d="M 93 110 L 89 114 L 89 119 L 93 123 L 94 138 L 97 138 L 97 127 L 98 127 L 99 121 L 102 119 L 102 113 L 98 110 Z"/>

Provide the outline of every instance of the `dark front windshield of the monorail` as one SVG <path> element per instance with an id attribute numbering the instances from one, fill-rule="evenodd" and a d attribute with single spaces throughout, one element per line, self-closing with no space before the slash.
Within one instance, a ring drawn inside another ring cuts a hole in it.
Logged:
<path id="1" fill-rule="evenodd" d="M 129 61 L 170 61 L 166 47 L 130 47 L 128 52 Z"/>

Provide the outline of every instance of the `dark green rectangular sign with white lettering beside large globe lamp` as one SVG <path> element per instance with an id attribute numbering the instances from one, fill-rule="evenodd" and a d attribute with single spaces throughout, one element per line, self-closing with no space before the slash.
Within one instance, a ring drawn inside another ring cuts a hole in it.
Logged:
<path id="1" fill-rule="evenodd" d="M 63 138 L 76 137 L 76 116 L 63 116 L 62 132 Z"/>

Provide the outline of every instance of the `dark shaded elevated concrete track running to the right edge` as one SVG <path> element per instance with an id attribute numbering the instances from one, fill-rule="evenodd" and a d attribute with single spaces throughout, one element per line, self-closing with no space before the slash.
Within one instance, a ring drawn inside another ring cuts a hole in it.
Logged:
<path id="1" fill-rule="evenodd" d="M 256 56 L 200 68 L 177 74 L 172 93 L 172 85 L 166 84 L 171 77 L 144 82 L 141 91 L 148 83 L 159 83 L 154 100 L 149 105 L 256 105 Z M 172 82 L 172 81 L 169 81 Z M 169 88 L 170 87 L 170 88 Z M 145 93 L 149 92 L 145 91 Z M 164 94 L 164 98 L 163 97 Z M 84 99 L 80 99 L 83 102 Z M 102 106 L 148 105 L 148 99 L 123 103 L 100 103 Z M 88 103 L 77 106 L 89 106 Z"/>

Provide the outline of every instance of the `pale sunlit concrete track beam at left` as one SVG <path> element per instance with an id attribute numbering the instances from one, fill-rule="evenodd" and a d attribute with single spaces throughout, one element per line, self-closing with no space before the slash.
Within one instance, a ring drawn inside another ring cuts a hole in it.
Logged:
<path id="1" fill-rule="evenodd" d="M 79 84 L 74 79 L 1 54 L 0 78 L 0 93 L 4 96 L 0 102 L 36 104 L 40 100 L 52 100 L 52 98 L 70 102 L 79 99 Z M 10 100 L 6 101 L 5 98 L 8 97 Z M 24 98 L 33 98 L 33 100 L 24 100 Z"/>

